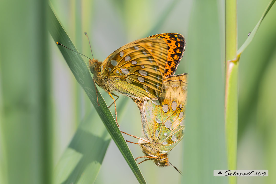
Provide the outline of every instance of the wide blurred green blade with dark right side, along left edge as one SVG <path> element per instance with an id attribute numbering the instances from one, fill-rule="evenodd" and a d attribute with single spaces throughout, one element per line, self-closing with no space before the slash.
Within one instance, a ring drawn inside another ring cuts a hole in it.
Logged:
<path id="1" fill-rule="evenodd" d="M 51 183 L 46 7 L 46 1 L 0 1 L 1 184 Z"/>

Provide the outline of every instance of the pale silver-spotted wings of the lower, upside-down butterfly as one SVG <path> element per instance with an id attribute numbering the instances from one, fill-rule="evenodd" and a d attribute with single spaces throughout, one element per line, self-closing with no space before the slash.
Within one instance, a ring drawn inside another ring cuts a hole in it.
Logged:
<path id="1" fill-rule="evenodd" d="M 184 135 L 187 74 L 169 76 L 163 80 L 160 102 L 147 101 L 142 106 L 145 136 L 155 142 L 155 149 L 167 153 Z"/>

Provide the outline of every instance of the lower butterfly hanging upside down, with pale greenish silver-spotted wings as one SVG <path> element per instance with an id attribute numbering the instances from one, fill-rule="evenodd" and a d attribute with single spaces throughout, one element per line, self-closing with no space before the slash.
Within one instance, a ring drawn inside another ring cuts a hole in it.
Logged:
<path id="1" fill-rule="evenodd" d="M 135 144 L 140 146 L 145 156 L 137 157 L 135 160 L 147 158 L 142 162 L 153 160 L 160 167 L 172 165 L 168 161 L 168 152 L 182 140 L 184 135 L 187 76 L 188 74 L 184 73 L 164 78 L 160 98 L 142 103 L 140 113 L 143 138 L 122 132 L 139 139 Z M 174 168 L 180 172 L 176 167 Z"/>

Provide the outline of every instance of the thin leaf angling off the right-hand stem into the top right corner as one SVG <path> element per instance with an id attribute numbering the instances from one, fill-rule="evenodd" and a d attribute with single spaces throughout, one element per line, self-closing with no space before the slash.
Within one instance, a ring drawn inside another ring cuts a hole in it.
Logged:
<path id="1" fill-rule="evenodd" d="M 272 7 L 272 5 L 274 4 L 275 1 L 276 0 L 271 0 L 269 2 L 269 4 L 267 5 L 266 9 L 264 10 L 264 13 L 262 14 L 261 19 L 259 20 L 259 22 L 257 23 L 257 25 L 254 27 L 253 31 L 248 36 L 248 38 L 246 39 L 246 41 L 242 44 L 242 46 L 240 47 L 240 49 L 238 49 L 237 55 L 240 55 L 246 49 L 246 47 L 250 44 L 250 42 L 253 40 L 256 32 L 259 29 L 259 26 L 262 23 L 262 20 L 264 20 L 264 17 L 266 17 L 266 14 L 268 13 L 268 11 L 270 10 L 270 8 Z"/>

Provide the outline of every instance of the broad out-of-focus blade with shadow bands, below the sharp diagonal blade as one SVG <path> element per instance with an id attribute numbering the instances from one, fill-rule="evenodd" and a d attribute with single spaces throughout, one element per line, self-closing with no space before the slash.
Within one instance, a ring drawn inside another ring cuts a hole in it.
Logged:
<path id="1" fill-rule="evenodd" d="M 94 183 L 110 143 L 110 135 L 90 113 L 79 127 L 54 170 L 54 184 Z"/>

